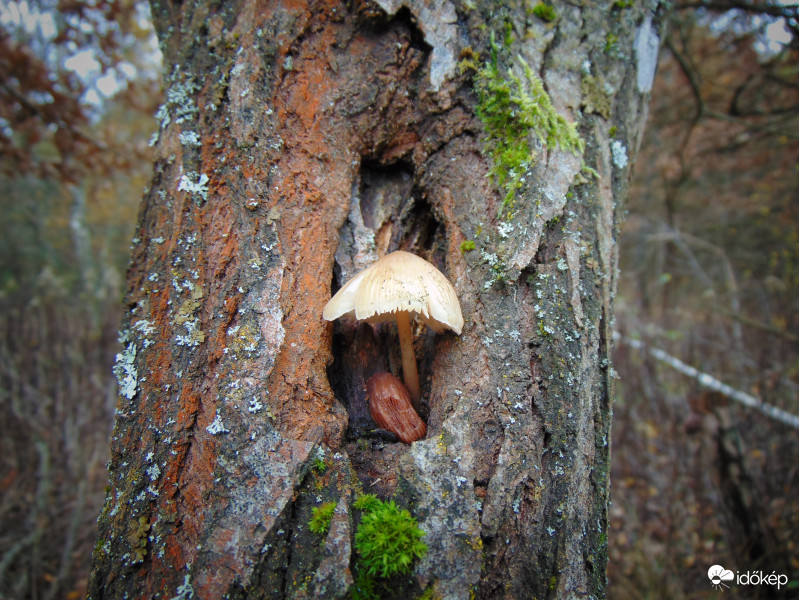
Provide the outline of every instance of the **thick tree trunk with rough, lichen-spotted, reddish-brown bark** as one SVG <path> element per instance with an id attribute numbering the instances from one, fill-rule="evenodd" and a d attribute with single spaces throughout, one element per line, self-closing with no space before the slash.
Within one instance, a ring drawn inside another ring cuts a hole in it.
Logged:
<path id="1" fill-rule="evenodd" d="M 616 235 L 660 15 L 554 9 L 153 0 L 167 102 L 91 598 L 345 597 L 360 490 L 426 532 L 398 598 L 604 596 Z M 491 32 L 500 71 L 521 57 L 586 144 L 531 136 L 512 219 L 458 68 Z M 411 446 L 365 399 L 399 374 L 396 329 L 321 318 L 395 249 L 447 274 L 466 319 L 416 332 L 428 433 Z"/>

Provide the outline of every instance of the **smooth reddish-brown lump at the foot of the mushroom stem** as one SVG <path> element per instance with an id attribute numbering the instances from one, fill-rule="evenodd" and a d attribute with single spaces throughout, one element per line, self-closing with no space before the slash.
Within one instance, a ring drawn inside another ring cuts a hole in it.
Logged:
<path id="1" fill-rule="evenodd" d="M 377 373 L 366 382 L 369 412 L 380 427 L 406 444 L 421 439 L 427 426 L 411 404 L 408 388 L 391 373 Z"/>

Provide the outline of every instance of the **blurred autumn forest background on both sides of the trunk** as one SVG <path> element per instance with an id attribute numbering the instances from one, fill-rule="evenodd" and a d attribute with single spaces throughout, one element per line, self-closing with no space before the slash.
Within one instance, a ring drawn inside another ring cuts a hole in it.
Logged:
<path id="1" fill-rule="evenodd" d="M 148 11 L 0 2 L 2 599 L 85 594 L 162 96 Z M 722 597 L 713 564 L 799 597 L 798 159 L 799 8 L 677 1 L 620 240 L 611 598 Z"/>

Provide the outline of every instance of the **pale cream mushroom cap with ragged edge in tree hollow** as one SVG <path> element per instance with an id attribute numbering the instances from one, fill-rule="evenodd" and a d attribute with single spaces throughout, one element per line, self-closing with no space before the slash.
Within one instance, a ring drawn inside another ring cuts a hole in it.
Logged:
<path id="1" fill-rule="evenodd" d="M 350 279 L 325 305 L 322 316 L 333 321 L 354 313 L 355 318 L 381 323 L 407 311 L 431 329 L 460 334 L 463 315 L 455 288 L 429 262 L 397 250 Z"/>

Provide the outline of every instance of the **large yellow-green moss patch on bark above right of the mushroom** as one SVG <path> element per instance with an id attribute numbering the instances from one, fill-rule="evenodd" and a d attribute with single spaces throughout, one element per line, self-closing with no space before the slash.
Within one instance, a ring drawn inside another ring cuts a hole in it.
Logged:
<path id="1" fill-rule="evenodd" d="M 543 83 L 529 65 L 517 57 L 524 78 L 512 71 L 503 74 L 497 51 L 492 36 L 491 59 L 475 78 L 477 115 L 488 134 L 484 151 L 492 160 L 490 175 L 505 189 L 502 206 L 510 213 L 525 173 L 535 160 L 529 142 L 531 134 L 548 148 L 557 146 L 574 154 L 580 154 L 585 144 L 576 126 L 555 111 Z"/>

